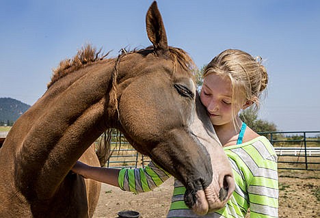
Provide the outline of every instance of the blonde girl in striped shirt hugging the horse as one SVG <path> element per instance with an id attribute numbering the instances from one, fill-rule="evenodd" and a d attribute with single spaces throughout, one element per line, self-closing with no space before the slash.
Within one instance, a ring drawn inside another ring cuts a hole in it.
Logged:
<path id="1" fill-rule="evenodd" d="M 224 208 L 198 216 L 183 201 L 185 187 L 174 182 L 167 217 L 278 217 L 278 172 L 276 152 L 267 138 L 258 135 L 239 118 L 239 111 L 258 108 L 267 87 L 267 72 L 248 53 L 228 49 L 206 66 L 201 101 L 224 146 L 235 175 L 236 188 Z M 144 169 L 108 169 L 78 162 L 73 172 L 122 190 L 143 192 L 161 185 L 170 175 L 155 163 Z"/>

